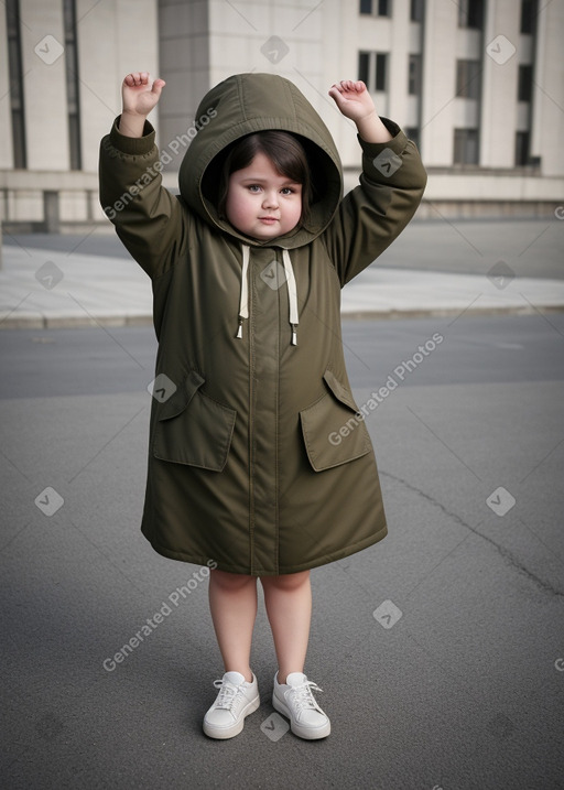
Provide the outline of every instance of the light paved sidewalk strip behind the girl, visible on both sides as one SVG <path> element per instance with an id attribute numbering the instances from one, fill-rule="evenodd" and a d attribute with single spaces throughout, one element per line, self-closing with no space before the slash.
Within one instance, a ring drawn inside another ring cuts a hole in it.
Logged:
<path id="1" fill-rule="evenodd" d="M 458 274 L 375 264 L 345 288 L 343 313 L 393 318 L 564 310 L 564 281 L 513 277 L 505 266 Z M 132 260 L 3 248 L 0 328 L 144 324 L 151 310 L 149 278 Z"/>

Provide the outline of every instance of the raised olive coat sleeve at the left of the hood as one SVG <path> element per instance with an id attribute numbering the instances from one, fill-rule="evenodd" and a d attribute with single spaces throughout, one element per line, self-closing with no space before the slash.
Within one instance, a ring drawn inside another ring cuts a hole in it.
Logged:
<path id="1" fill-rule="evenodd" d="M 163 274 L 186 247 L 187 212 L 162 185 L 154 129 L 143 137 L 118 130 L 119 118 L 100 143 L 100 203 L 134 260 L 151 279 Z"/>

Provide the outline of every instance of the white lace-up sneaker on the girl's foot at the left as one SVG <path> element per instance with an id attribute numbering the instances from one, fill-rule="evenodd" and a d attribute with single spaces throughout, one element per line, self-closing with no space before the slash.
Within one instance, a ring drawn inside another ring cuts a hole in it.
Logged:
<path id="1" fill-rule="evenodd" d="M 249 683 L 240 672 L 226 672 L 214 685 L 219 694 L 204 716 L 204 733 L 210 738 L 232 738 L 241 732 L 245 717 L 260 705 L 257 678 L 253 674 Z"/>

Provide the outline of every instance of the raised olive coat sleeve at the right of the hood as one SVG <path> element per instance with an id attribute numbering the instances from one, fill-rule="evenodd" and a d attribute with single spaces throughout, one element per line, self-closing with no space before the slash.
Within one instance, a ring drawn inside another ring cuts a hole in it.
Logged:
<path id="1" fill-rule="evenodd" d="M 323 234 L 341 286 L 401 234 L 421 203 L 426 172 L 417 149 L 397 123 L 381 119 L 393 139 L 362 149 L 360 185 L 351 190 Z"/>

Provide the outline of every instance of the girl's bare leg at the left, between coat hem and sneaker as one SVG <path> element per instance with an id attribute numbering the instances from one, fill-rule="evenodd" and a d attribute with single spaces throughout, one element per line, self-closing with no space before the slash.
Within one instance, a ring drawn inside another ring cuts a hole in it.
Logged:
<path id="1" fill-rule="evenodd" d="M 209 610 L 226 672 L 240 672 L 249 683 L 252 628 L 257 617 L 257 577 L 209 573 Z"/>

